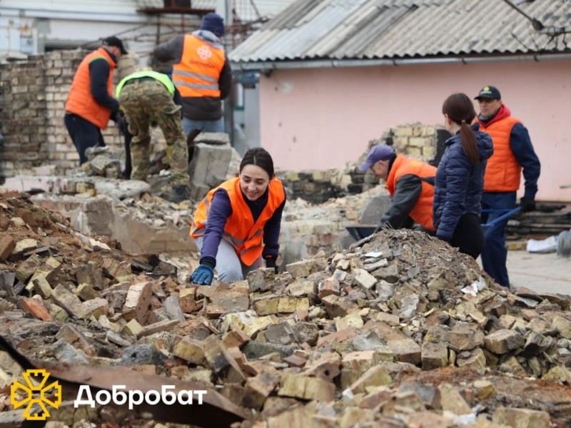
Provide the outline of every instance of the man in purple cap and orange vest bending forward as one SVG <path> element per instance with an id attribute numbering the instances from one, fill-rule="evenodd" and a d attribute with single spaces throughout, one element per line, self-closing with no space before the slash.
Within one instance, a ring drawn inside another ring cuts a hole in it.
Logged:
<path id="1" fill-rule="evenodd" d="M 414 223 L 428 233 L 434 233 L 433 198 L 436 168 L 428 163 L 406 158 L 395 153 L 392 147 L 378 144 L 370 149 L 359 170 L 373 171 L 386 181 L 391 196 L 387 212 L 380 218 L 381 228 L 412 228 Z"/>

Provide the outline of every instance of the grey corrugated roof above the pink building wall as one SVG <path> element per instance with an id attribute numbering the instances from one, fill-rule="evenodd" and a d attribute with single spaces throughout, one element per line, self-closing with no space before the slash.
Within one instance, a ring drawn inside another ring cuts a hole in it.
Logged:
<path id="1" fill-rule="evenodd" d="M 230 54 L 231 61 L 429 58 L 570 52 L 571 1 L 298 0 Z"/>

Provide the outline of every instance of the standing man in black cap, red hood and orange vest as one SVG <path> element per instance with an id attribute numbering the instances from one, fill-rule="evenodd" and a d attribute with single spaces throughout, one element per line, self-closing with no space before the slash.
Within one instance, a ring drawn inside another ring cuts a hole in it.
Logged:
<path id="1" fill-rule="evenodd" d="M 520 205 L 524 212 L 535 210 L 541 165 L 533 150 L 530 134 L 519 119 L 511 116 L 510 109 L 503 105 L 500 91 L 495 86 L 484 86 L 474 99 L 480 104 L 480 115 L 477 117 L 480 131 L 489 133 L 494 143 L 494 154 L 487 160 L 484 175 L 482 210 L 500 210 L 497 213 L 482 213 L 482 221 L 489 223 L 515 208 L 522 170 L 525 192 Z M 481 257 L 482 267 L 487 274 L 498 284 L 510 287 L 505 265 L 506 228 L 507 219 L 487 231 Z"/>

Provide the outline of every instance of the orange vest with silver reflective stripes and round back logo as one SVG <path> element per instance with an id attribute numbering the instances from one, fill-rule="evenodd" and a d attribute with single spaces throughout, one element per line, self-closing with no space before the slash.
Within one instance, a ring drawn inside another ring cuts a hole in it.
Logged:
<path id="1" fill-rule="evenodd" d="M 223 49 L 186 34 L 181 62 L 173 65 L 173 83 L 182 97 L 220 97 L 218 78 L 225 61 Z"/>

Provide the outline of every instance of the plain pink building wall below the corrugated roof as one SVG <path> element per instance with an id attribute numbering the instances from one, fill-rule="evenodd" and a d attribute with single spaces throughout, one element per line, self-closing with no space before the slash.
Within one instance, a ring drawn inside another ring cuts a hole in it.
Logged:
<path id="1" fill-rule="evenodd" d="M 261 146 L 277 168 L 340 168 L 390 127 L 442 124 L 448 95 L 489 84 L 530 132 L 537 199 L 570 202 L 571 188 L 560 188 L 571 184 L 570 70 L 571 59 L 278 69 L 260 77 Z"/>

